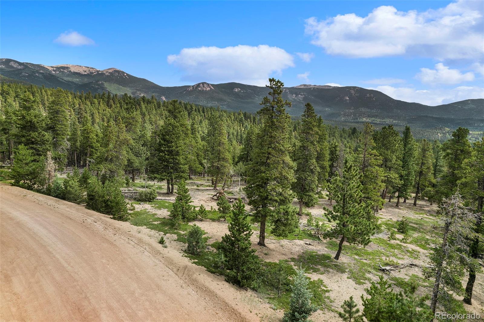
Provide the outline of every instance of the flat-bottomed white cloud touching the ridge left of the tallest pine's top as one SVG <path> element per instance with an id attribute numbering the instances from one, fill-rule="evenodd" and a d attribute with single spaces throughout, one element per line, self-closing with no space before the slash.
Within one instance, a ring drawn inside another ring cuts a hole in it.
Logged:
<path id="1" fill-rule="evenodd" d="M 268 45 L 183 48 L 167 61 L 179 67 L 183 80 L 239 82 L 263 86 L 272 73 L 294 67 L 294 58 L 284 49 Z"/>

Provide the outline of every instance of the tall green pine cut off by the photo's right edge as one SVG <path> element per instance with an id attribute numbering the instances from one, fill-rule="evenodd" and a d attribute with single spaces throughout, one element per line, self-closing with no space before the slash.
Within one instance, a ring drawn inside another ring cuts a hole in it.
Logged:
<path id="1" fill-rule="evenodd" d="M 483 204 L 484 204 L 484 137 L 481 141 L 475 142 L 472 148 L 471 157 L 464 161 L 463 178 L 458 182 L 461 191 L 465 196 L 465 204 L 474 209 L 476 223 L 474 238 L 469 238 L 469 255 L 477 260 L 484 259 L 484 224 L 483 224 Z M 466 285 L 464 302 L 472 305 L 472 292 L 476 273 L 480 271 L 479 265 L 469 265 L 469 278 Z"/>

